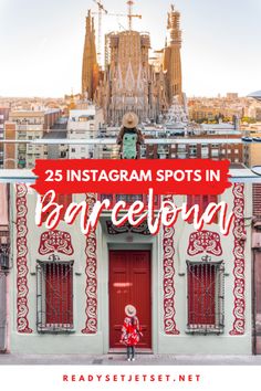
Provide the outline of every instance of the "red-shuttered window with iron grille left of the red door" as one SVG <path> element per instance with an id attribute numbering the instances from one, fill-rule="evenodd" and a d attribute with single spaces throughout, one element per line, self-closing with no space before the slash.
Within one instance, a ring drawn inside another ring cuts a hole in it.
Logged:
<path id="1" fill-rule="evenodd" d="M 38 331 L 73 331 L 73 261 L 38 261 L 36 295 Z"/>

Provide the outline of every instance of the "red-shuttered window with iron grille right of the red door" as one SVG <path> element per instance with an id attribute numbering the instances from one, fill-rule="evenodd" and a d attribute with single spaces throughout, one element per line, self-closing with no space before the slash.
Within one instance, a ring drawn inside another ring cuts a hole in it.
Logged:
<path id="1" fill-rule="evenodd" d="M 187 261 L 188 332 L 223 331 L 223 262 Z"/>

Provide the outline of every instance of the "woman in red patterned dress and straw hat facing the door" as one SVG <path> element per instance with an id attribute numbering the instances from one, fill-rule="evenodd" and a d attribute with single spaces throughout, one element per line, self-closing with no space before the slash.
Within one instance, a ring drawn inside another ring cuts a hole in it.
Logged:
<path id="1" fill-rule="evenodd" d="M 123 323 L 121 342 L 127 347 L 127 360 L 135 361 L 135 346 L 143 335 L 136 316 L 136 308 L 132 304 L 128 304 L 125 307 L 125 314 L 126 318 Z"/>

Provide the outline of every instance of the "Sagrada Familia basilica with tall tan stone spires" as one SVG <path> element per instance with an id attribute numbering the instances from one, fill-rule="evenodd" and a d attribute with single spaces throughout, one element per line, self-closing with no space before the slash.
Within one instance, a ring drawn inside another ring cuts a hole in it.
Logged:
<path id="1" fill-rule="evenodd" d="M 133 2 L 130 2 L 133 3 Z M 83 54 L 82 94 L 103 107 L 108 125 L 118 125 L 127 112 L 139 121 L 157 120 L 171 106 L 184 103 L 181 85 L 180 13 L 171 6 L 165 47 L 149 55 L 149 33 L 132 29 L 105 36 L 105 67 L 97 62 L 94 19 L 88 11 Z"/>

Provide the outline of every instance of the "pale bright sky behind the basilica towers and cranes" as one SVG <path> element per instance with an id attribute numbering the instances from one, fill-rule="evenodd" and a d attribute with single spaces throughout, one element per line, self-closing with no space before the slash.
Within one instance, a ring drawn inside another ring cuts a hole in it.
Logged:
<path id="1" fill-rule="evenodd" d="M 134 28 L 164 46 L 169 0 L 136 0 Z M 125 0 L 103 0 L 125 13 Z M 177 0 L 182 80 L 188 96 L 261 89 L 261 0 Z M 63 96 L 81 91 L 87 9 L 93 0 L 0 0 L 0 96 Z M 103 18 L 103 33 L 127 19 Z"/>

